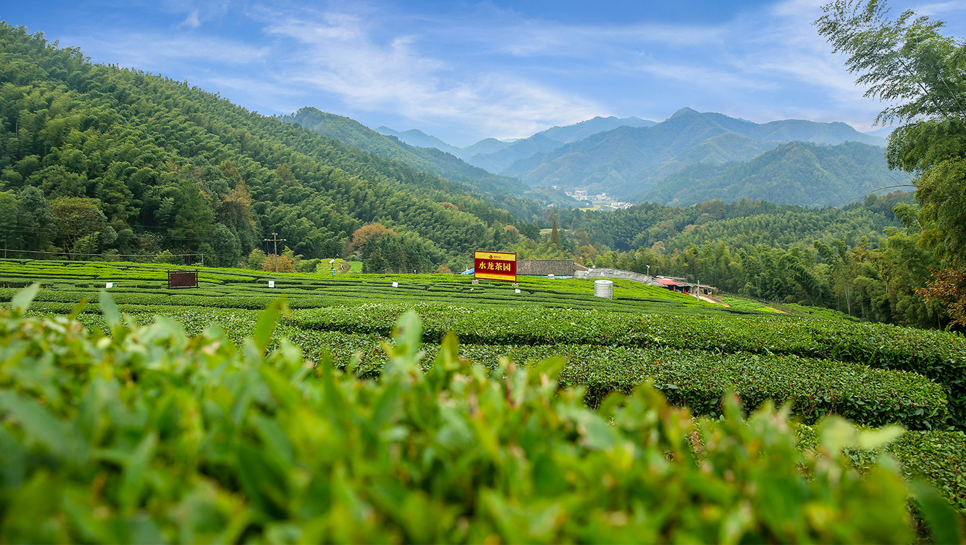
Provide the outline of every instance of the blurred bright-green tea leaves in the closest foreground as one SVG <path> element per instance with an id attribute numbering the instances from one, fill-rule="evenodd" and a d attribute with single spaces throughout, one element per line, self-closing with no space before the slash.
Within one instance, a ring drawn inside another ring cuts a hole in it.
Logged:
<path id="1" fill-rule="evenodd" d="M 108 298 L 110 336 L 24 318 L 31 295 L 0 312 L 3 542 L 908 543 L 910 497 L 961 538 L 933 488 L 841 455 L 895 427 L 827 417 L 807 455 L 785 411 L 733 398 L 694 418 L 644 386 L 591 411 L 561 359 L 491 376 L 448 336 L 422 371 L 412 313 L 377 382 L 267 354 L 279 303 L 236 348 Z"/>

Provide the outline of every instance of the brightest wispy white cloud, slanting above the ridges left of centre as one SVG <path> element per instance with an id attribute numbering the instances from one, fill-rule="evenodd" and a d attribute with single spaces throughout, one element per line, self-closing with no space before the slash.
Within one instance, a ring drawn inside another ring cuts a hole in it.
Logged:
<path id="1" fill-rule="evenodd" d="M 285 77 L 337 95 L 356 110 L 385 110 L 412 123 L 469 125 L 499 136 L 526 136 L 603 111 L 591 100 L 512 72 L 473 71 L 420 51 L 420 37 L 381 39 L 354 14 L 274 14 L 268 31 L 301 44 Z"/>

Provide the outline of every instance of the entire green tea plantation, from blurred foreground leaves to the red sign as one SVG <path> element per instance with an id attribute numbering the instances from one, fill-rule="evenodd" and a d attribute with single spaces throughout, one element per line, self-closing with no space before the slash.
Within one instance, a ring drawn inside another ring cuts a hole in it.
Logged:
<path id="1" fill-rule="evenodd" d="M 621 280 L 165 267 L 0 261 L 0 541 L 908 541 L 909 497 L 960 537 L 961 336 Z"/>

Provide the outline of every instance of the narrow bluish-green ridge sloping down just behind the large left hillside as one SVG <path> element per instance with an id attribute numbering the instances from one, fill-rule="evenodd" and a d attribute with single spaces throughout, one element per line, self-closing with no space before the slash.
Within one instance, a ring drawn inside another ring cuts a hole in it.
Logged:
<path id="1" fill-rule="evenodd" d="M 532 193 L 520 180 L 492 174 L 439 149 L 410 146 L 394 136 L 381 134 L 348 117 L 326 113 L 313 107 L 301 108 L 291 116 L 283 116 L 281 119 L 287 123 L 298 123 L 305 129 L 372 155 L 441 176 L 458 184 L 463 190 L 478 193 L 496 206 L 518 216 L 539 214 L 540 207 L 532 199 L 519 198 L 525 197 L 526 193 Z M 577 204 L 562 193 L 540 191 L 532 196 L 557 206 Z"/>

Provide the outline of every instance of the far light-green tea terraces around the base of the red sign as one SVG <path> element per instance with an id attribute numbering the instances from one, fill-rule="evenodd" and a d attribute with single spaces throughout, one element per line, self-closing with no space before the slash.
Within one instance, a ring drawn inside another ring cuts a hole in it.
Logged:
<path id="1" fill-rule="evenodd" d="M 184 269 L 184 268 L 182 268 Z M 38 301 L 75 302 L 96 296 L 107 282 L 122 304 L 187 305 L 206 308 L 261 309 L 284 295 L 293 308 L 355 306 L 369 302 L 438 302 L 467 307 L 527 306 L 586 308 L 616 312 L 701 313 L 710 305 L 667 290 L 616 280 L 614 300 L 593 296 L 586 280 L 521 277 L 519 286 L 460 274 L 294 274 L 233 269 L 204 269 L 199 288 L 166 289 L 166 266 L 144 264 L 0 261 L 0 286 L 18 288 L 43 284 Z M 269 287 L 269 280 L 274 287 Z M 396 283 L 396 287 L 393 286 Z M 517 293 L 516 290 L 520 290 Z M 12 293 L 5 292 L 7 297 Z"/>

